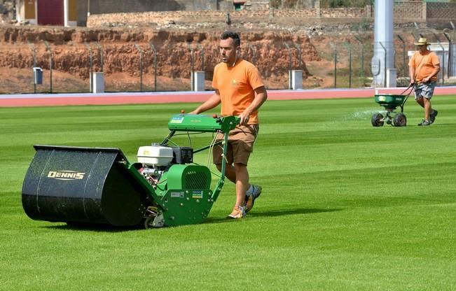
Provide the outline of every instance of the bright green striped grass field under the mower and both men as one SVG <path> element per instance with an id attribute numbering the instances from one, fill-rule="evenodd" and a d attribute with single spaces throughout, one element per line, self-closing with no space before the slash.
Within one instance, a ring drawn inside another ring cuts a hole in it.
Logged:
<path id="1" fill-rule="evenodd" d="M 226 219 L 227 183 L 205 223 L 147 230 L 29 219 L 32 145 L 118 147 L 134 162 L 196 104 L 0 108 L 0 290 L 456 290 L 456 96 L 433 104 L 434 125 L 418 127 L 409 100 L 396 128 L 371 126 L 373 99 L 267 101 L 247 218 Z"/>

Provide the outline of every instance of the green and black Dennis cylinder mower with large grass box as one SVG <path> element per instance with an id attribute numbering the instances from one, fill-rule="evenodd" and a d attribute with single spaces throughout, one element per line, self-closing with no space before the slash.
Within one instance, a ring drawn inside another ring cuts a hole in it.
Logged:
<path id="1" fill-rule="evenodd" d="M 221 192 L 226 161 L 211 190 L 211 171 L 193 154 L 216 145 L 226 153 L 234 116 L 174 115 L 160 143 L 139 147 L 130 163 L 118 148 L 35 145 L 22 185 L 22 206 L 34 220 L 163 227 L 201 223 Z M 177 132 L 221 132 L 223 141 L 193 150 L 175 146 Z M 172 146 L 170 146 L 170 144 Z"/>

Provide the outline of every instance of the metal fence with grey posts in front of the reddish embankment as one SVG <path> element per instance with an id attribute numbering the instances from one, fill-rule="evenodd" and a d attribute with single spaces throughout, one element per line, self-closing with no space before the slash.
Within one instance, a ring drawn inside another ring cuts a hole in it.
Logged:
<path id="1" fill-rule="evenodd" d="M 439 83 L 455 83 L 455 29 L 426 31 L 417 27 L 395 34 L 397 84 L 403 86 L 409 82 L 408 52 L 415 50 L 413 42 L 420 34 L 443 52 L 439 55 L 442 64 Z M 242 57 L 258 66 L 270 90 L 291 89 L 293 70 L 303 71 L 304 89 L 371 85 L 371 37 L 354 31 L 333 41 L 326 36 L 312 36 L 310 41 L 308 46 L 318 52 L 310 60 L 308 47 L 293 41 L 266 43 L 261 49 L 256 43 L 243 44 Z M 11 78 L 4 78 L 0 84 L 1 94 L 92 92 L 92 77 L 96 73 L 104 74 L 105 92 L 190 91 L 198 89 L 193 82 L 197 71 L 205 73 L 202 90 L 212 90 L 213 68 L 219 62 L 216 45 L 203 47 L 199 43 L 185 43 L 179 50 L 165 53 L 153 43 L 131 43 L 119 50 L 100 43 L 62 48 L 43 42 L 29 43 L 29 50 L 20 54 L 11 57 L 11 64 L 2 69 Z M 79 59 L 77 66 L 72 59 Z M 37 72 L 33 68 L 43 70 L 41 84 L 36 83 Z"/>

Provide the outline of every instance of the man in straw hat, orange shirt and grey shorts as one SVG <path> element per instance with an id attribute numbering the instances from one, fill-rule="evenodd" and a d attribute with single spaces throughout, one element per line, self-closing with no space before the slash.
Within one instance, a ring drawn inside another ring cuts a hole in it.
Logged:
<path id="1" fill-rule="evenodd" d="M 426 38 L 421 37 L 415 45 L 418 46 L 418 50 L 408 62 L 410 86 L 415 86 L 415 100 L 424 108 L 424 120 L 418 125 L 431 125 L 438 113 L 432 109 L 431 98 L 440 71 L 440 61 L 435 52 L 427 49 L 430 43 Z"/>

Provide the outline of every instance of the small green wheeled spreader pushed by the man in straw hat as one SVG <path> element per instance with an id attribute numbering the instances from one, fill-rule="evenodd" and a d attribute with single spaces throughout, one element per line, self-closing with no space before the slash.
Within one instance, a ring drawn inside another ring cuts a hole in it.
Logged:
<path id="1" fill-rule="evenodd" d="M 405 92 L 410 91 L 403 95 Z M 406 115 L 403 113 L 403 106 L 410 94 L 413 92 L 413 87 L 409 86 L 401 94 L 375 94 L 375 102 L 380 106 L 385 107 L 385 111 L 374 113 L 372 115 L 372 125 L 374 127 L 382 127 L 386 122 L 394 127 L 405 127 L 407 125 Z M 401 112 L 396 112 L 396 107 L 401 108 Z"/>

